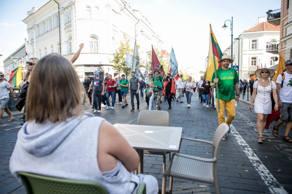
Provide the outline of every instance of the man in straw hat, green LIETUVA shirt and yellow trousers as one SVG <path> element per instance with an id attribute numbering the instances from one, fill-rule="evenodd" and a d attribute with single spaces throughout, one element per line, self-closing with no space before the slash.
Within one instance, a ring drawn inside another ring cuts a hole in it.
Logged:
<path id="1" fill-rule="evenodd" d="M 234 68 L 229 68 L 229 64 L 232 63 L 233 60 L 230 59 L 229 55 L 223 55 L 221 60 L 218 63 L 222 64 L 222 68 L 216 70 L 217 78 L 215 78 L 215 72 L 212 76 L 212 86 L 216 87 L 216 83 L 218 83 L 219 96 L 216 92 L 216 100 L 217 104 L 220 105 L 221 111 L 217 108 L 218 113 L 218 122 L 219 125 L 222 123 L 226 123 L 230 125 L 232 120 L 235 117 L 235 100 L 238 103 L 239 100 L 239 89 L 238 89 L 238 75 L 237 71 Z M 236 93 L 236 95 L 234 95 Z M 225 108 L 227 110 L 227 120 L 225 120 Z M 229 131 L 230 133 L 230 126 Z M 226 134 L 223 136 L 222 140 L 226 139 Z"/>

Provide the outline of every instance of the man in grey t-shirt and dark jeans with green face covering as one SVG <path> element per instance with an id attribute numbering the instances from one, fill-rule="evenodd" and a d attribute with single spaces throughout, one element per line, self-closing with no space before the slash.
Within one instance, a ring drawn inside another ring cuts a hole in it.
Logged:
<path id="1" fill-rule="evenodd" d="M 140 88 L 140 82 L 138 77 L 135 75 L 135 71 L 132 71 L 131 73 L 131 78 L 129 81 L 129 92 L 131 94 L 131 105 L 132 105 L 132 110 L 135 111 L 135 104 L 134 104 L 134 95 L 136 96 L 137 100 L 137 110 L 139 110 L 139 88 Z"/>

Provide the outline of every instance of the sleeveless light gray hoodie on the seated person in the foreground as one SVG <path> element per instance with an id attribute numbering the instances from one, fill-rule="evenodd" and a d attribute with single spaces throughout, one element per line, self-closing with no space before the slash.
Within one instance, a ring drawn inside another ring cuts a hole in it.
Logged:
<path id="1" fill-rule="evenodd" d="M 84 113 L 65 122 L 25 122 L 18 133 L 10 159 L 10 171 L 24 171 L 65 179 L 94 181 L 109 193 L 133 193 L 139 176 L 130 173 L 121 161 L 113 170 L 101 172 L 97 161 L 98 131 L 104 121 Z"/>

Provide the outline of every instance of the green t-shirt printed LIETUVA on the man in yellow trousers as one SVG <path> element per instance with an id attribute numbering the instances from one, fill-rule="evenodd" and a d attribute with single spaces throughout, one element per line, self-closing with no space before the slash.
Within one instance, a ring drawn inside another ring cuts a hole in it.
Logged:
<path id="1" fill-rule="evenodd" d="M 223 70 L 222 68 L 217 69 L 218 80 L 218 91 L 219 99 L 230 101 L 235 99 L 235 87 L 234 84 L 239 82 L 237 71 L 234 68 L 229 68 L 228 70 Z M 212 83 L 214 82 L 215 72 L 212 76 Z M 216 92 L 217 98 L 217 92 Z"/>

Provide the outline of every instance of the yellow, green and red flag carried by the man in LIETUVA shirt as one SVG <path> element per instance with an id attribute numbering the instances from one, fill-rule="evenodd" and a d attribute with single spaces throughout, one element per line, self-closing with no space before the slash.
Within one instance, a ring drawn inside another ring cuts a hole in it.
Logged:
<path id="1" fill-rule="evenodd" d="M 215 57 L 215 60 L 214 60 L 214 57 Z M 206 73 L 207 80 L 211 81 L 213 73 L 215 71 L 214 61 L 216 64 L 216 69 L 222 67 L 221 63 L 218 64 L 218 61 L 221 60 L 221 57 L 222 57 L 222 52 L 210 24 L 210 44 L 209 44 L 208 66 L 207 66 L 207 73 Z"/>

